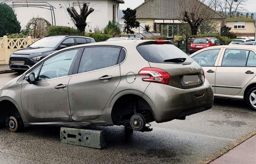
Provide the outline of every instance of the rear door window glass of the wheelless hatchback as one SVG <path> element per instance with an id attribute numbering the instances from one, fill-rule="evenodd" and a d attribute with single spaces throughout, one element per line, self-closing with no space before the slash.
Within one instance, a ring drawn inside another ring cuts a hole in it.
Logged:
<path id="1" fill-rule="evenodd" d="M 78 73 L 103 69 L 117 65 L 120 48 L 117 47 L 88 47 L 80 61 Z"/>

